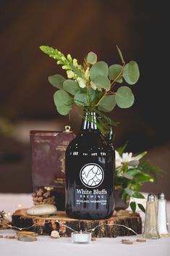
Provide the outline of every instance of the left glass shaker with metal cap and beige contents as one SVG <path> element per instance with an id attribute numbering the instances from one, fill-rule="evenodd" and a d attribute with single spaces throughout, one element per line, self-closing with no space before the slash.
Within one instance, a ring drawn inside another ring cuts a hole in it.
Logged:
<path id="1" fill-rule="evenodd" d="M 146 202 L 145 212 L 145 228 L 143 232 L 145 239 L 159 239 L 158 232 L 158 216 L 156 207 L 156 198 L 153 194 L 148 195 L 148 202 Z"/>

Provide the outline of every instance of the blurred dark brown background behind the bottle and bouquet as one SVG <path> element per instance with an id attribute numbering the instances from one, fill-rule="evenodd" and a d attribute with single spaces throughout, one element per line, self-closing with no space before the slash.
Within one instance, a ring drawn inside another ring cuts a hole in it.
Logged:
<path id="1" fill-rule="evenodd" d="M 169 8 L 166 1 L 136 0 L 1 0 L 0 1 L 0 192 L 32 191 L 29 131 L 80 128 L 76 110 L 61 117 L 53 102 L 48 75 L 60 73 L 39 50 L 53 46 L 81 63 L 89 51 L 109 65 L 136 60 L 140 80 L 132 91 L 135 104 L 116 108 L 111 117 L 115 146 L 126 141 L 128 152 L 148 151 L 145 159 L 165 173 L 143 191 L 169 193 Z"/>

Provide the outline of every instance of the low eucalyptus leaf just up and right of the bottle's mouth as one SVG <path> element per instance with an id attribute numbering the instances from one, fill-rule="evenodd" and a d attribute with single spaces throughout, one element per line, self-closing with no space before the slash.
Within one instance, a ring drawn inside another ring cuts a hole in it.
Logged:
<path id="1" fill-rule="evenodd" d="M 103 97 L 100 104 L 98 104 L 98 109 L 104 112 L 111 112 L 111 110 L 114 110 L 115 106 L 116 106 L 115 95 L 106 95 Z"/>

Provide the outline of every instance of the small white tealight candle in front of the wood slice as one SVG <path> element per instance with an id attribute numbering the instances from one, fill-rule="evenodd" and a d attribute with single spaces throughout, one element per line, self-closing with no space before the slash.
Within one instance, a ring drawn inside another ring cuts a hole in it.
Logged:
<path id="1" fill-rule="evenodd" d="M 89 244 L 91 241 L 91 233 L 72 232 L 72 243 L 74 244 Z"/>

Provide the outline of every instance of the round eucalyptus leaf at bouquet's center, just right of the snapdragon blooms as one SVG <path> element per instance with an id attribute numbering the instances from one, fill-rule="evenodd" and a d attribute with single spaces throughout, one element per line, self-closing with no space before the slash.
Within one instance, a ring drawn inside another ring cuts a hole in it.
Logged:
<path id="1" fill-rule="evenodd" d="M 98 75 L 108 76 L 108 65 L 106 62 L 96 62 L 90 69 L 90 78 L 94 80 Z"/>

